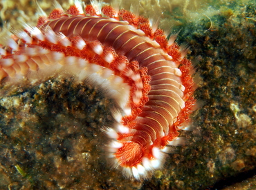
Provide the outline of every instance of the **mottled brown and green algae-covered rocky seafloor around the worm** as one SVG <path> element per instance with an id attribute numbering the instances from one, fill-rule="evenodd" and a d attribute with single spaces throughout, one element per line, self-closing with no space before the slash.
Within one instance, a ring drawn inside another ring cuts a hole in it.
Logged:
<path id="1" fill-rule="evenodd" d="M 255 2 L 140 1 L 145 15 L 152 7 L 163 13 L 161 28 L 179 32 L 196 68 L 201 107 L 194 130 L 181 132 L 187 144 L 149 180 L 130 180 L 105 160 L 101 127 L 113 124 L 115 103 L 102 89 L 61 75 L 1 86 L 0 189 L 256 189 Z M 33 1 L 0 8 L 10 23 L 19 10 L 35 21 Z"/>

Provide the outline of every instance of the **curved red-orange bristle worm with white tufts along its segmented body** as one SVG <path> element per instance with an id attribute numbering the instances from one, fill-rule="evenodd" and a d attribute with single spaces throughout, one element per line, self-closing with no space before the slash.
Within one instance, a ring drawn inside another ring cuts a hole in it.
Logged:
<path id="1" fill-rule="evenodd" d="M 124 112 L 116 116 L 118 126 L 107 129 L 113 138 L 110 157 L 127 176 L 147 178 L 161 167 L 166 146 L 172 145 L 181 124 L 189 119 L 194 105 L 192 66 L 181 58 L 179 46 L 167 44 L 162 30 L 152 32 L 147 19 L 121 10 L 119 16 L 128 22 L 119 21 L 113 8 L 102 11 L 115 18 L 95 15 L 91 6 L 86 7 L 91 15 L 85 15 L 73 6 L 67 11 L 71 16 L 54 10 L 49 17 L 53 20 L 39 19 L 37 28 L 26 28 L 28 36 L 18 34 L 22 39 L 18 45 L 2 49 L 6 52 L 1 56 L 0 75 L 26 76 L 45 61 L 66 65 L 70 58 L 82 69 L 96 64 L 111 70 L 128 84 L 129 98 L 120 103 Z"/>

